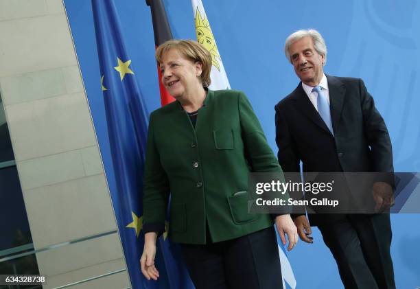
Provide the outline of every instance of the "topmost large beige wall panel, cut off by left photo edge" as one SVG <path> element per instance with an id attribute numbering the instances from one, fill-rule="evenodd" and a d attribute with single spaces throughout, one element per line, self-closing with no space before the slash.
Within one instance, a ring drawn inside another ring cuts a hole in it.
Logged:
<path id="1" fill-rule="evenodd" d="M 0 77 L 77 64 L 64 14 L 0 22 Z"/>

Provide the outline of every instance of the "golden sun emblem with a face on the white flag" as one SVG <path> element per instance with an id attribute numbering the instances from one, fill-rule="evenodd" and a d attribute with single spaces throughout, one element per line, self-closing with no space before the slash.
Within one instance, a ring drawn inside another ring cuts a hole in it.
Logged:
<path id="1" fill-rule="evenodd" d="M 200 10 L 196 12 L 196 34 L 197 41 L 204 45 L 204 47 L 209 50 L 211 54 L 211 63 L 220 71 L 220 65 L 218 60 L 220 59 L 218 47 L 215 45 L 214 36 L 210 29 L 210 23 L 205 16 L 204 19 L 201 18 Z"/>

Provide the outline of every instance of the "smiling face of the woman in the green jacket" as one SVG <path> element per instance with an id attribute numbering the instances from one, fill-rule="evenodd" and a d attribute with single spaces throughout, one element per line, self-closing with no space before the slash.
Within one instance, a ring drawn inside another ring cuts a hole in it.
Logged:
<path id="1" fill-rule="evenodd" d="M 162 84 L 176 99 L 202 86 L 200 80 L 202 65 L 200 62 L 194 63 L 187 60 L 177 49 L 167 51 L 161 60 Z"/>

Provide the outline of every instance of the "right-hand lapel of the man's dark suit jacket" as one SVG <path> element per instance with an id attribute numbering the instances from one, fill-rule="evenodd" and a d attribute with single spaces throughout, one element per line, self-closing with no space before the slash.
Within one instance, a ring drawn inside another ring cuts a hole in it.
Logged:
<path id="1" fill-rule="evenodd" d="M 331 111 L 331 122 L 334 132 L 340 124 L 342 105 L 344 104 L 346 88 L 344 84 L 334 76 L 327 76 L 329 89 L 329 109 Z"/>

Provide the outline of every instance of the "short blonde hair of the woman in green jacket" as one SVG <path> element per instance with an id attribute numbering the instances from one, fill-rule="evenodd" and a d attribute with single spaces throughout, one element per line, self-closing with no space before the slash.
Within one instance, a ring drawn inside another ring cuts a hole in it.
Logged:
<path id="1" fill-rule="evenodd" d="M 200 62 L 202 65 L 202 73 L 200 76 L 202 86 L 209 87 L 210 71 L 211 71 L 211 55 L 210 52 L 205 49 L 200 43 L 194 40 L 178 40 L 172 39 L 159 45 L 156 49 L 156 60 L 161 63 L 163 55 L 170 49 L 176 49 L 183 57 L 192 61 Z"/>

